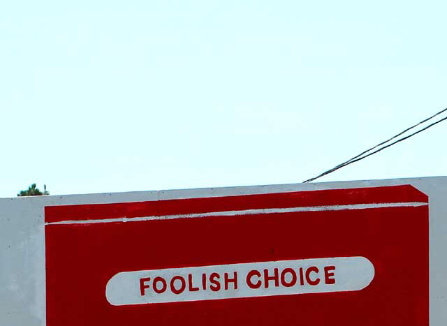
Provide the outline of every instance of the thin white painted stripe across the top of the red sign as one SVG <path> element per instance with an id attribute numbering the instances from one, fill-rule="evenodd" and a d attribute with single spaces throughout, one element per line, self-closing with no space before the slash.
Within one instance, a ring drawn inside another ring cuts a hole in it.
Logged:
<path id="1" fill-rule="evenodd" d="M 277 213 L 294 213 L 294 212 L 319 212 L 319 211 L 342 211 L 347 209 L 371 209 L 383 207 L 418 207 L 427 206 L 426 202 L 388 202 L 382 204 L 356 204 L 356 205 L 332 205 L 332 206 L 314 206 L 314 207 L 289 207 L 289 208 L 265 208 L 265 209 L 246 209 L 240 211 L 226 211 L 226 212 L 210 212 L 197 214 L 179 214 L 179 215 L 164 215 L 164 216 L 143 216 L 132 218 L 104 218 L 99 220 L 84 220 L 84 221 L 59 221 L 45 223 L 45 225 L 55 224 L 90 224 L 90 223 L 116 223 L 116 222 L 137 222 L 137 221 L 152 221 L 152 220 L 168 220 L 173 218 L 196 218 L 209 216 L 235 216 L 235 215 L 254 215 L 254 214 L 277 214 Z"/>

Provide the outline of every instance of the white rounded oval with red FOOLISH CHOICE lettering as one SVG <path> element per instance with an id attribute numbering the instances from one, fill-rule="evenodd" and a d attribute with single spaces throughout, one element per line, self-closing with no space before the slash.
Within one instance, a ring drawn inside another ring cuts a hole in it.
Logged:
<path id="1" fill-rule="evenodd" d="M 108 281 L 114 306 L 358 291 L 374 279 L 365 257 L 315 258 L 121 272 Z M 155 282 L 154 282 L 155 281 Z"/>

